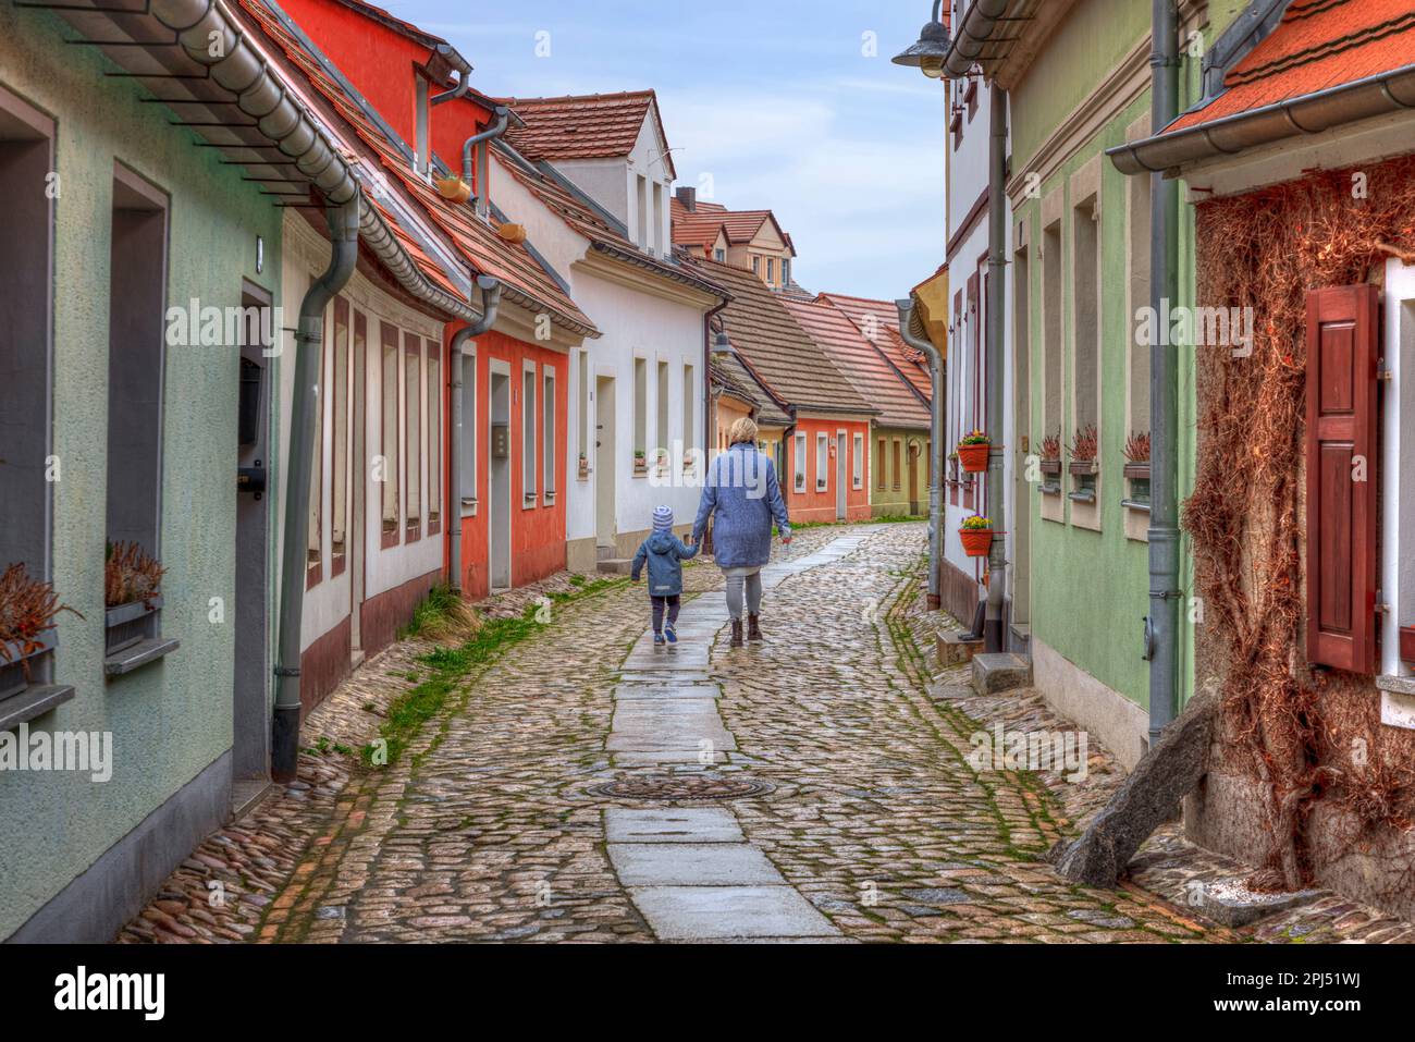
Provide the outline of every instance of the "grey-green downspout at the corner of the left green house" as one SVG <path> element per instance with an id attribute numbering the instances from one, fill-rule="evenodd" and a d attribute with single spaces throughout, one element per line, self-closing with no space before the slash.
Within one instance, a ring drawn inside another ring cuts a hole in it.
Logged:
<path id="1" fill-rule="evenodd" d="M 294 782 L 300 753 L 300 626 L 304 617 L 304 575 L 308 568 L 310 474 L 314 430 L 321 408 L 320 355 L 324 309 L 344 289 L 358 262 L 359 193 L 325 210 L 330 224 L 330 266 L 300 302 L 294 333 L 294 394 L 290 403 L 290 464 L 284 486 L 284 545 L 280 561 L 280 622 L 276 637 L 275 712 L 270 776 Z"/>

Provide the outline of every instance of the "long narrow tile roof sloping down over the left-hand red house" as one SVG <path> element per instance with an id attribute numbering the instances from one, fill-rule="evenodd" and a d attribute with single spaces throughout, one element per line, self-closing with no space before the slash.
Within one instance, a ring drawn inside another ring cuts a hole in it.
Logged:
<path id="1" fill-rule="evenodd" d="M 416 176 L 406 157 L 383 132 L 368 120 L 358 105 L 324 72 L 313 55 L 270 14 L 259 0 L 236 0 L 241 10 L 249 16 L 265 35 L 275 42 L 286 57 L 304 74 L 306 79 L 330 102 L 334 112 L 371 149 L 385 173 L 391 174 L 426 211 L 427 217 L 471 262 L 477 272 L 495 276 L 502 282 L 505 296 L 531 310 L 543 310 L 555 324 L 586 336 L 599 336 L 579 306 L 570 300 L 560 285 L 541 266 L 526 244 L 514 245 L 502 239 L 497 229 L 474 217 L 466 205 L 449 202 Z M 381 207 L 386 214 L 386 207 Z M 391 218 L 392 222 L 392 218 Z M 396 227 L 396 225 L 395 225 Z M 399 238 L 412 241 L 403 229 Z M 420 256 L 426 256 L 417 251 Z M 440 283 L 446 275 L 426 269 L 430 277 Z"/>

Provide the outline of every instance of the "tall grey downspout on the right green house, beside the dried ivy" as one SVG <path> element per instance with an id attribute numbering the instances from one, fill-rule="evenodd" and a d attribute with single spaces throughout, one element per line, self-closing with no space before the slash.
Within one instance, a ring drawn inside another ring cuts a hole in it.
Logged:
<path id="1" fill-rule="evenodd" d="M 1155 0 L 1150 44 L 1150 127 L 1169 126 L 1179 115 L 1179 11 L 1176 0 Z M 1176 262 L 1179 183 L 1150 174 L 1150 307 L 1165 314 L 1179 296 Z M 1150 347 L 1150 517 L 1149 619 L 1146 654 L 1150 667 L 1150 746 L 1179 709 L 1179 418 L 1177 353 Z"/>

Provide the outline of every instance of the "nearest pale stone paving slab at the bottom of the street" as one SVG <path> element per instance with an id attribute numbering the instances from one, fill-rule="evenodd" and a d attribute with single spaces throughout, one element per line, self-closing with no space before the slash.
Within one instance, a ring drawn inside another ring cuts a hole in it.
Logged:
<path id="1" fill-rule="evenodd" d="M 662 940 L 839 934 L 791 886 L 631 886 L 630 896 Z"/>

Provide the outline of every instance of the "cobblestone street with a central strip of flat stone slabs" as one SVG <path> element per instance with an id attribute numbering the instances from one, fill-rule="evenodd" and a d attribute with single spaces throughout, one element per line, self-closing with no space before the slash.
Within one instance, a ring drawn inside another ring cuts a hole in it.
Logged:
<path id="1" fill-rule="evenodd" d="M 1119 772 L 1094 748 L 1081 784 L 969 766 L 993 721 L 1064 725 L 930 670 L 923 541 L 886 524 L 777 546 L 766 641 L 740 650 L 710 563 L 685 571 L 675 648 L 652 646 L 642 588 L 596 590 L 471 675 L 393 766 L 354 766 L 427 651 L 396 646 L 307 723 L 304 780 L 212 837 L 123 940 L 1247 939 L 1180 908 L 1213 865 L 1173 834 L 1148 848 L 1167 851 L 1157 893 L 1054 875 L 1043 855 Z M 652 791 L 739 782 L 766 791 Z M 214 878 L 235 909 L 215 919 Z M 1302 915 L 1264 939 L 1407 936 L 1334 899 Z"/>

